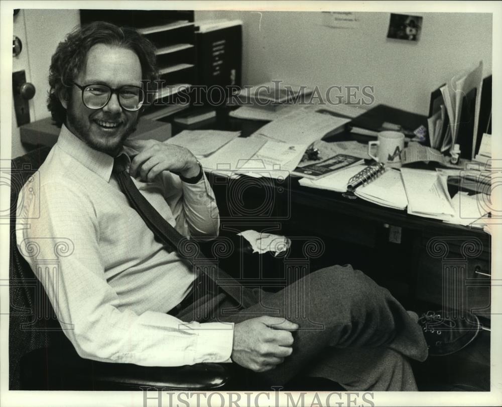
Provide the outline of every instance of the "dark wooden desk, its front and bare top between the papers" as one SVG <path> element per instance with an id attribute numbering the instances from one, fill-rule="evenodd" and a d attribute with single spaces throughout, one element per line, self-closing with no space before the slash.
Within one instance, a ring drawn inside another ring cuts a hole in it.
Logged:
<path id="1" fill-rule="evenodd" d="M 384 110 L 380 109 L 379 114 Z M 266 124 L 229 117 L 225 110 L 188 128 L 240 130 L 242 137 Z M 390 109 L 393 122 L 423 122 L 424 116 Z M 173 134 L 186 126 L 173 124 Z M 338 134 L 334 140 L 365 136 Z M 340 193 L 299 185 L 289 177 L 228 180 L 213 176 L 221 222 L 229 227 L 255 222 L 262 229 L 276 227 L 287 236 L 317 236 L 326 241 L 326 263 L 350 262 L 410 308 L 451 306 L 468 310 L 490 325 L 491 236 L 481 229 L 408 215 Z M 443 290 L 455 287 L 446 297 Z"/>

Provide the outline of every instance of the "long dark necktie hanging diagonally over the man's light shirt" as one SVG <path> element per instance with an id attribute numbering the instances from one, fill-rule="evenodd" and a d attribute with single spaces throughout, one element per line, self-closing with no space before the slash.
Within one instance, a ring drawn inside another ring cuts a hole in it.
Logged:
<path id="1" fill-rule="evenodd" d="M 168 251 L 175 250 L 181 257 L 186 259 L 199 275 L 204 273 L 209 278 L 210 283 L 213 283 L 211 286 L 215 287 L 218 285 L 238 304 L 244 307 L 255 304 L 256 301 L 253 294 L 246 287 L 217 267 L 214 262 L 208 260 L 199 250 L 193 250 L 194 246 L 190 245 L 190 240 L 172 227 L 157 212 L 134 184 L 127 172 L 127 163 L 127 157 L 124 154 L 116 157 L 113 164 L 113 173 L 120 189 L 127 196 L 131 207 L 138 212 L 155 237 L 166 246 Z M 219 284 L 218 279 L 224 281 L 225 284 Z"/>

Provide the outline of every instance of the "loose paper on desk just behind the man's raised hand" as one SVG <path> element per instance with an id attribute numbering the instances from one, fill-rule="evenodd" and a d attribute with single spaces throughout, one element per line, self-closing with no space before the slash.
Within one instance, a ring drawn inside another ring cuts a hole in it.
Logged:
<path id="1" fill-rule="evenodd" d="M 165 143 L 182 146 L 194 156 L 209 156 L 233 139 L 239 137 L 240 131 L 220 130 L 183 130 Z"/>

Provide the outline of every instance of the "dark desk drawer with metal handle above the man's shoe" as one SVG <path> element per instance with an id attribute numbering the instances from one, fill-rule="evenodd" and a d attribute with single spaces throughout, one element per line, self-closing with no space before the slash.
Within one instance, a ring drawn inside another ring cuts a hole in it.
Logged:
<path id="1" fill-rule="evenodd" d="M 431 240 L 428 239 L 426 244 L 422 241 L 420 247 L 417 298 L 433 303 L 439 308 L 444 305 L 459 311 L 466 310 L 489 320 L 491 281 L 489 251 L 462 250 L 462 241 L 460 244 L 450 242 L 446 251 L 431 250 Z M 458 243 L 461 239 L 455 240 Z"/>

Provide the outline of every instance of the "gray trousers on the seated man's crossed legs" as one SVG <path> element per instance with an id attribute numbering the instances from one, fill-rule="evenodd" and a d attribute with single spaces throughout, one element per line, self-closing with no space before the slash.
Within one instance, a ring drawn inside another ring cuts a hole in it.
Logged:
<path id="1" fill-rule="evenodd" d="M 302 374 L 347 390 L 417 390 L 408 359 L 427 358 L 422 330 L 387 289 L 359 270 L 331 266 L 277 293 L 254 289 L 253 295 L 256 304 L 247 308 L 225 293 L 204 295 L 177 317 L 239 323 L 270 315 L 297 323 L 293 353 L 273 370 L 252 373 L 268 386 L 283 386 Z"/>

